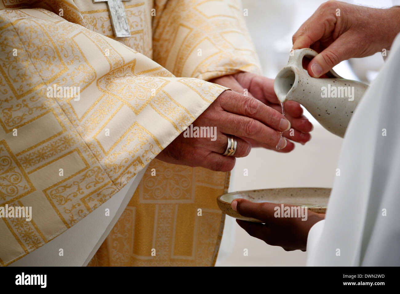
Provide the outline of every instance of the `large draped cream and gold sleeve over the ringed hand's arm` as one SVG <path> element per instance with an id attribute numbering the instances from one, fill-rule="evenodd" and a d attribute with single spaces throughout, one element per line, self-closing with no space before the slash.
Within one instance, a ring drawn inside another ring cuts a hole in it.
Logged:
<path id="1" fill-rule="evenodd" d="M 176 78 L 48 10 L 0 10 L 0 264 L 108 200 L 226 88 Z"/>

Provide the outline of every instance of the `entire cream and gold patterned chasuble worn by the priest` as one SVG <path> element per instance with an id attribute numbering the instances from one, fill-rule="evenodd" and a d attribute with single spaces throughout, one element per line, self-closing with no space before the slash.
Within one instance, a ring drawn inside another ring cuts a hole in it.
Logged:
<path id="1" fill-rule="evenodd" d="M 224 216 L 215 198 L 229 174 L 154 157 L 226 89 L 205 80 L 258 72 L 243 10 L 228 0 L 123 5 L 131 36 L 114 38 L 105 2 L 0 0 L 0 206 L 32 206 L 33 215 L 0 220 L 3 266 L 74 226 L 147 164 L 90 265 L 216 260 Z M 80 98 L 49 95 L 54 85 L 79 87 Z"/>

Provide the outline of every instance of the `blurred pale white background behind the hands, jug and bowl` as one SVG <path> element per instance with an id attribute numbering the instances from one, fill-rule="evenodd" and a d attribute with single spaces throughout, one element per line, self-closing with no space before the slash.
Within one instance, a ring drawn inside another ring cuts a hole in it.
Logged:
<path id="1" fill-rule="evenodd" d="M 256 47 L 264 76 L 274 78 L 288 62 L 292 35 L 325 1 L 321 0 L 242 0 L 248 9 L 246 23 Z M 388 8 L 391 0 L 346 1 L 352 4 Z M 369 84 L 383 64 L 377 53 L 340 63 L 334 70 L 342 77 Z M 296 144 L 289 154 L 253 148 L 249 156 L 236 161 L 230 192 L 262 188 L 326 187 L 332 188 L 342 138 L 322 128 L 308 112 L 314 124 L 312 139 Z M 243 175 L 244 168 L 248 176 Z M 248 249 L 248 256 L 244 256 Z M 306 253 L 286 252 L 249 236 L 226 216 L 222 246 L 216 266 L 304 266 Z"/>

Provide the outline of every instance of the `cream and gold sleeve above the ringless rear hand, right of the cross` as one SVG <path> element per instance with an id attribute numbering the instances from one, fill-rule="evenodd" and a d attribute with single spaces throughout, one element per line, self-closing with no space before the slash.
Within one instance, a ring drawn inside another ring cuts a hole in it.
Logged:
<path id="1" fill-rule="evenodd" d="M 175 76 L 210 80 L 246 71 L 260 74 L 244 18 L 236 0 L 155 0 L 154 60 Z"/>

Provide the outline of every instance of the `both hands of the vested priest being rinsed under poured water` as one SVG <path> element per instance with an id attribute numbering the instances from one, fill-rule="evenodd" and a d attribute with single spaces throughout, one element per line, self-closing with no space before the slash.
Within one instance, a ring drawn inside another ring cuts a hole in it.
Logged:
<path id="1" fill-rule="evenodd" d="M 158 159 L 226 172 L 232 170 L 236 157 L 247 156 L 252 147 L 276 150 L 280 144 L 278 152 L 290 152 L 294 149 L 290 140 L 302 144 L 310 140 L 312 124 L 302 115 L 300 104 L 286 102 L 286 117 L 282 115 L 280 102 L 273 90 L 273 80 L 240 72 L 211 82 L 229 87 L 232 91 L 222 92 L 193 122 L 193 126 L 215 126 L 216 140 L 185 138 L 182 133 L 158 154 Z M 244 88 L 248 89 L 247 93 Z M 237 141 L 234 156 L 222 155 L 228 145 L 227 134 L 234 135 Z"/>

